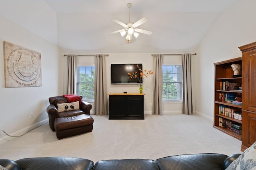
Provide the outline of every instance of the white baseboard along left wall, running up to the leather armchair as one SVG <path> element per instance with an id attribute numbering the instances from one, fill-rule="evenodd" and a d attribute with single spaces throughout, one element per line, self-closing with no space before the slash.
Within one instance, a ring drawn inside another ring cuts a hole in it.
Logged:
<path id="1" fill-rule="evenodd" d="M 28 127 L 25 127 L 24 129 L 21 129 L 19 131 L 16 131 L 12 134 L 8 134 L 8 135 L 11 135 L 11 136 L 20 136 L 20 135 L 23 135 L 25 133 L 27 133 L 28 131 L 32 131 L 33 129 L 36 129 L 37 127 L 41 126 L 41 125 L 44 125 L 45 123 L 48 123 L 49 122 L 49 119 L 45 119 L 45 120 L 42 120 L 40 122 L 37 122 L 37 123 L 34 123 L 33 125 L 30 125 Z M 4 137 L 0 138 L 0 145 L 2 143 L 6 143 L 7 141 L 10 141 L 12 139 L 14 139 L 15 137 L 10 137 L 10 136 L 7 136 L 3 131 L 0 131 L 0 135 L 5 135 Z"/>

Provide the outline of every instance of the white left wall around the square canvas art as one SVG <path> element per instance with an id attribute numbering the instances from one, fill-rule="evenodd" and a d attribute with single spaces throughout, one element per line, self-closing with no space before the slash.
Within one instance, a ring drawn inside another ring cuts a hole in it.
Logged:
<path id="1" fill-rule="evenodd" d="M 48 98 L 62 94 L 59 88 L 58 47 L 0 15 L 0 128 L 9 135 L 21 135 L 48 121 Z M 3 41 L 41 53 L 42 86 L 5 88 Z M 61 86 L 60 86 L 61 87 Z M 30 113 L 34 117 L 30 118 Z M 0 142 L 11 138 L 0 131 Z"/>

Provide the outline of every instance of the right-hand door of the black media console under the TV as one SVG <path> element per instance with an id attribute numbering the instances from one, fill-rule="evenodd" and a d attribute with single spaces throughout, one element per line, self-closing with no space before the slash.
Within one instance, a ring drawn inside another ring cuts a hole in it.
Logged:
<path id="1" fill-rule="evenodd" d="M 144 96 L 127 96 L 127 117 L 143 117 Z"/>

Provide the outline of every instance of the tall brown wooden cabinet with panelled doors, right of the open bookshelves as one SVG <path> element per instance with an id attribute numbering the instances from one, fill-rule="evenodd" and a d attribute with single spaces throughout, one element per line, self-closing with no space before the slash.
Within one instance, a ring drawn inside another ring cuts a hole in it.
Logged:
<path id="1" fill-rule="evenodd" d="M 256 42 L 242 51 L 242 151 L 256 141 Z"/>

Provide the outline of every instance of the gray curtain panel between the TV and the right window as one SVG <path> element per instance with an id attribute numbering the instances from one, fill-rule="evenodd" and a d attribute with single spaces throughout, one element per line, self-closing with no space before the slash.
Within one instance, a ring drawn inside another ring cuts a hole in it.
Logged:
<path id="1" fill-rule="evenodd" d="M 163 71 L 162 54 L 154 54 L 153 65 L 153 115 L 162 115 Z"/>

